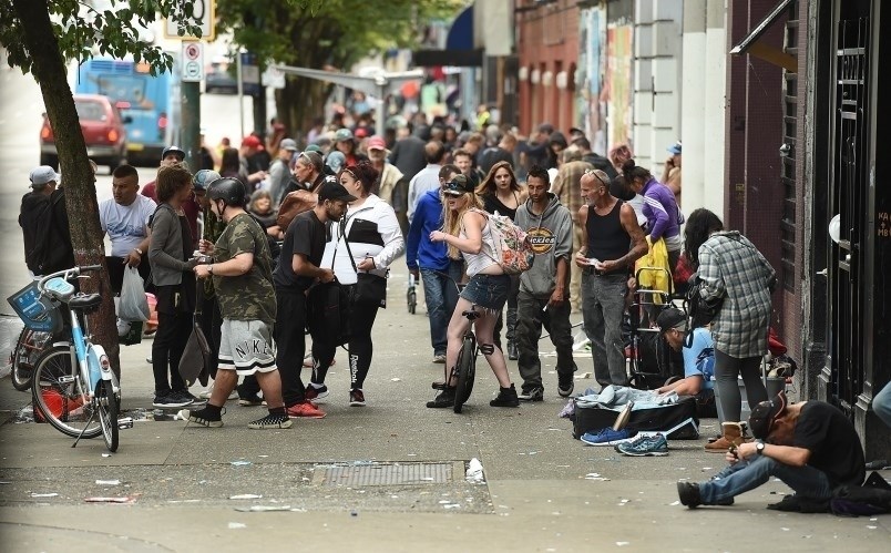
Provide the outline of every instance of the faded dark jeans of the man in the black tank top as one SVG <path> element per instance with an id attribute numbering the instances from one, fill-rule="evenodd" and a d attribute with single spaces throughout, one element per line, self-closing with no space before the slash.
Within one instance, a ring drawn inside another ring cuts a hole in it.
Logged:
<path id="1" fill-rule="evenodd" d="M 582 275 L 582 317 L 591 340 L 594 378 L 601 387 L 628 385 L 622 344 L 627 280 L 625 273 L 597 276 L 585 270 Z"/>

